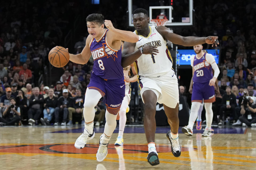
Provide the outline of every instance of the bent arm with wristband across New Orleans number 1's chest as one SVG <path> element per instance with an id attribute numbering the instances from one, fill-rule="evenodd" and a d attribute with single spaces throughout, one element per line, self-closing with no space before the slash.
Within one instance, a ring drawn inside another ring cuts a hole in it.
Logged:
<path id="1" fill-rule="evenodd" d="M 122 51 L 122 67 L 127 67 L 131 65 L 135 60 L 137 60 L 142 54 L 153 54 L 157 55 L 159 53 L 156 46 L 145 46 L 139 48 L 138 50 L 134 51 L 135 43 L 128 43 L 125 42 L 123 45 Z"/>

